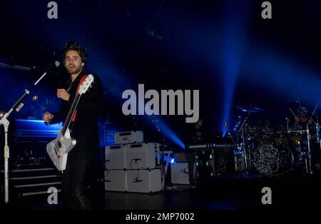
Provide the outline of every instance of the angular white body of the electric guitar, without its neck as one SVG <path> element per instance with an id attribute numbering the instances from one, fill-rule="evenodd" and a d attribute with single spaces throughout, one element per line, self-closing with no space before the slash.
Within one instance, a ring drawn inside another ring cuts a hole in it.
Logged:
<path id="1" fill-rule="evenodd" d="M 71 138 L 69 129 L 63 136 L 62 128 L 58 137 L 47 144 L 47 153 L 59 171 L 66 169 L 68 153 L 74 146 L 76 146 L 76 140 Z"/>

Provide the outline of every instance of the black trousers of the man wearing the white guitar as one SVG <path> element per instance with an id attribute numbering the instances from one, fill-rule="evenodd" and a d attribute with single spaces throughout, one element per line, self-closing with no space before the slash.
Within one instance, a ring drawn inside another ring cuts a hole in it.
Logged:
<path id="1" fill-rule="evenodd" d="M 91 162 L 91 156 L 76 157 L 73 154 L 68 155 L 62 182 L 63 203 L 66 209 L 91 209 L 90 201 L 85 193 Z"/>

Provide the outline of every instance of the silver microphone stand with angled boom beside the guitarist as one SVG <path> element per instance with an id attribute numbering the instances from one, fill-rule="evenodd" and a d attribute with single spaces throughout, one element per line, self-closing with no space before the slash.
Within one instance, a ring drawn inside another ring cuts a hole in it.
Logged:
<path id="1" fill-rule="evenodd" d="M 41 81 L 42 78 L 46 76 L 46 72 L 34 83 L 34 86 L 36 86 L 39 81 Z M 32 86 L 30 89 L 34 88 Z M 20 109 L 24 106 L 24 99 L 29 96 L 30 90 L 25 89 L 25 93 L 19 98 L 16 103 L 14 103 L 14 106 L 11 107 L 11 109 L 4 114 L 4 116 L 0 120 L 0 126 L 4 126 L 4 202 L 7 204 L 9 203 L 9 170 L 8 170 L 8 164 L 9 164 L 9 146 L 8 146 L 8 130 L 9 130 L 9 121 L 8 117 L 12 111 L 19 112 Z"/>

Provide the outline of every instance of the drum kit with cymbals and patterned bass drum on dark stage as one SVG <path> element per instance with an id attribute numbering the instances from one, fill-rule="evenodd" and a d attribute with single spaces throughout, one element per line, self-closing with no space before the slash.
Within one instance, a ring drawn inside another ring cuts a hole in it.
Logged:
<path id="1" fill-rule="evenodd" d="M 248 175 L 279 176 L 289 173 L 310 175 L 320 161 L 320 125 L 307 107 L 288 107 L 294 119 L 285 118 L 280 124 L 252 121 L 253 114 L 265 111 L 259 106 L 237 106 L 240 113 L 233 129 Z M 293 111 L 296 111 L 294 113 Z"/>

